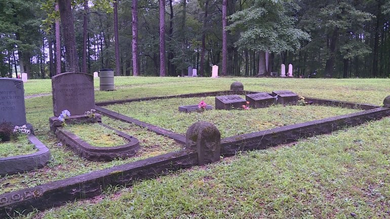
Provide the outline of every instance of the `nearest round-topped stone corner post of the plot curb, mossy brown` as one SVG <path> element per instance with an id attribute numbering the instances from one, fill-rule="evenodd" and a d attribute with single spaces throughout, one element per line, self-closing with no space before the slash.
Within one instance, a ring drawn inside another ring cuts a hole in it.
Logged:
<path id="1" fill-rule="evenodd" d="M 218 161 L 221 156 L 221 134 L 210 122 L 195 122 L 185 134 L 185 147 L 198 153 L 198 165 Z"/>

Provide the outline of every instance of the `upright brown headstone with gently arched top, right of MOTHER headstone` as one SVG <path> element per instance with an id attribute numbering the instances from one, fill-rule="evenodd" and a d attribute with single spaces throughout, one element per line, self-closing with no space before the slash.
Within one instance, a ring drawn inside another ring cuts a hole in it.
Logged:
<path id="1" fill-rule="evenodd" d="M 71 115 L 84 115 L 95 107 L 93 76 L 82 72 L 65 72 L 52 77 L 53 112 L 62 110 Z"/>

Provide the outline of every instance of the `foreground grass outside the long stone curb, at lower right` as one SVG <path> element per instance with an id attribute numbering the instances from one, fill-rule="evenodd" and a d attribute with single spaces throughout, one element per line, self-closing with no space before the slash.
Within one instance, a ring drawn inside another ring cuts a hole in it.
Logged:
<path id="1" fill-rule="evenodd" d="M 21 218 L 389 218 L 390 118 Z"/>

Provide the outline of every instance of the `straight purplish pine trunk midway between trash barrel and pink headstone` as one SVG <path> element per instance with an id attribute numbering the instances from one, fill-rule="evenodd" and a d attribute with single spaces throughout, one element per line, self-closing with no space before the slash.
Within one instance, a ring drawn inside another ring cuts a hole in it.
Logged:
<path id="1" fill-rule="evenodd" d="M 160 12 L 160 77 L 165 77 L 165 0 L 159 1 Z"/>

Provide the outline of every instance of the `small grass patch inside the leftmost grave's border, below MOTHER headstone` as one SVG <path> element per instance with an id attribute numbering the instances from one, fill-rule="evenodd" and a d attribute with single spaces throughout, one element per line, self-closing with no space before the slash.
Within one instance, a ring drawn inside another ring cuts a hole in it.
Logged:
<path id="1" fill-rule="evenodd" d="M 32 154 L 36 151 L 34 145 L 28 141 L 26 135 L 20 135 L 17 139 L 13 137 L 8 142 L 0 141 L 0 158 Z"/>

